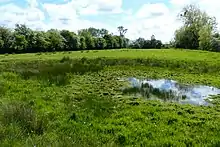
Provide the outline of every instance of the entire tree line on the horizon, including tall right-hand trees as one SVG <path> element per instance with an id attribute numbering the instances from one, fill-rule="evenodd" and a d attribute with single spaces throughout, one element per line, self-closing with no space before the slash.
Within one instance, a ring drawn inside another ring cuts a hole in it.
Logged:
<path id="1" fill-rule="evenodd" d="M 53 51 L 103 49 L 160 49 L 183 48 L 220 51 L 220 34 L 215 17 L 209 16 L 196 5 L 186 5 L 178 15 L 182 26 L 174 32 L 169 44 L 162 44 L 154 35 L 150 40 L 126 38 L 128 29 L 118 27 L 119 35 L 101 28 L 81 29 L 77 32 L 50 29 L 37 31 L 24 24 L 14 29 L 0 27 L 0 53 L 35 53 Z"/>

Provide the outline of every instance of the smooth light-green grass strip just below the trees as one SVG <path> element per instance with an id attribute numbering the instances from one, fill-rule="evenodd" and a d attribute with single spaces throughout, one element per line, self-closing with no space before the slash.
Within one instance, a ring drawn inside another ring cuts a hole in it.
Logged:
<path id="1" fill-rule="evenodd" d="M 199 54 L 198 54 L 199 53 Z M 195 50 L 178 50 L 178 49 L 121 49 L 121 50 L 91 50 L 91 51 L 75 51 L 75 52 L 55 52 L 55 53 L 38 53 L 38 54 L 10 54 L 0 55 L 0 60 L 48 60 L 60 59 L 63 56 L 71 58 L 163 58 L 163 59 L 178 59 L 178 60 L 193 60 L 193 61 L 213 61 L 220 62 L 219 54 L 207 51 Z"/>

